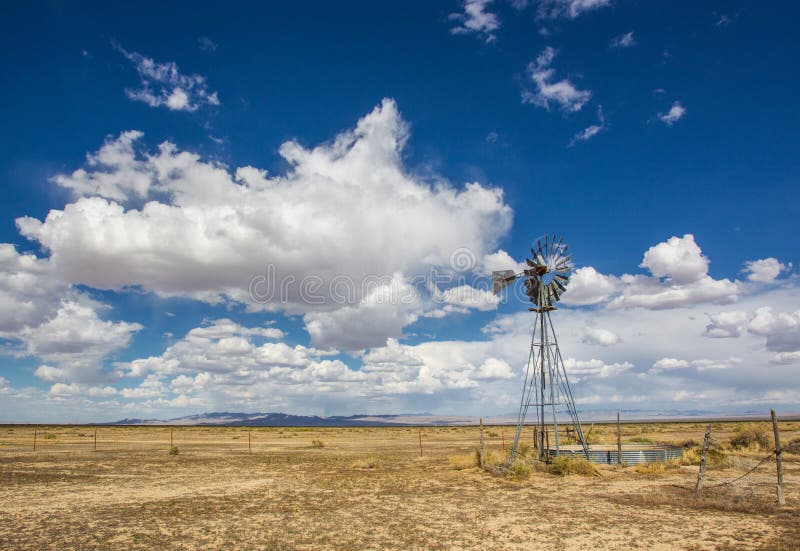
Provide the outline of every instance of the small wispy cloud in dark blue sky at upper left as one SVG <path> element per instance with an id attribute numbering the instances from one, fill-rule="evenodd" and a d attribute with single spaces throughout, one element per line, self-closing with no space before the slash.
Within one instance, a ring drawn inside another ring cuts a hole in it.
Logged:
<path id="1" fill-rule="evenodd" d="M 207 105 L 220 105 L 217 93 L 208 89 L 205 77 L 184 75 L 172 61 L 158 63 L 121 46 L 116 46 L 116 49 L 134 64 L 139 74 L 141 87 L 125 90 L 131 100 L 141 101 L 150 107 L 167 107 L 171 111 L 191 112 Z"/>

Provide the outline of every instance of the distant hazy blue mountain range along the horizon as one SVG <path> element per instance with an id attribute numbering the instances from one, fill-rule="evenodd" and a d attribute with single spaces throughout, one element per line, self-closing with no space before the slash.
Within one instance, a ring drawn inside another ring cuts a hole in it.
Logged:
<path id="1" fill-rule="evenodd" d="M 620 412 L 623 422 L 633 421 L 691 421 L 701 419 L 747 420 L 766 419 L 769 412 L 722 413 L 718 411 L 647 411 L 625 410 Z M 602 422 L 616 419 L 616 411 L 595 410 L 581 412 L 584 422 Z M 782 413 L 781 418 L 788 420 L 797 418 L 797 413 Z M 535 416 L 534 416 L 535 418 Z M 503 414 L 484 417 L 488 425 L 516 424 L 516 414 Z M 567 419 L 559 420 L 559 422 Z M 529 420 L 530 422 L 530 420 Z M 388 426 L 460 426 L 476 425 L 478 417 L 458 415 L 435 415 L 432 413 L 405 413 L 397 415 L 334 415 L 321 417 L 318 415 L 291 415 L 288 413 L 232 413 L 228 411 L 200 413 L 175 419 L 121 419 L 109 423 L 93 423 L 95 425 L 196 425 L 196 426 L 229 426 L 229 427 L 388 427 Z"/>

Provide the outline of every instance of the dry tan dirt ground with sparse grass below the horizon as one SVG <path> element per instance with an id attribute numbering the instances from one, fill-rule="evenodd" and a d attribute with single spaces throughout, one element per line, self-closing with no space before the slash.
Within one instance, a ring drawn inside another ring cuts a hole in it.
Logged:
<path id="1" fill-rule="evenodd" d="M 477 427 L 98 427 L 97 451 L 94 427 L 38 427 L 34 452 L 33 427 L 0 426 L 0 548 L 800 549 L 800 455 L 783 454 L 783 508 L 774 460 L 714 487 L 769 454 L 727 449 L 754 426 L 714 423 L 727 466 L 700 499 L 693 465 L 491 474 L 473 459 Z M 683 444 L 704 428 L 623 425 L 623 440 Z M 784 443 L 798 436 L 782 424 Z M 485 437 L 500 456 L 513 428 Z"/>

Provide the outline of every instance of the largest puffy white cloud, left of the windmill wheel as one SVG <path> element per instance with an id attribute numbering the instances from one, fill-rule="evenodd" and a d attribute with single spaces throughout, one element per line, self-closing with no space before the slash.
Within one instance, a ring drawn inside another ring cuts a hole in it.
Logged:
<path id="1" fill-rule="evenodd" d="M 338 318 L 325 313 L 388 312 L 363 303 L 374 278 L 450 269 L 459 250 L 482 259 L 511 225 L 502 190 L 458 189 L 403 166 L 408 130 L 392 100 L 325 145 L 284 143 L 291 168 L 282 176 L 203 161 L 169 142 L 147 153 L 141 139 L 124 132 L 86 168 L 56 176 L 78 196 L 63 210 L 17 219 L 70 283 L 315 313 L 309 332 L 333 346 L 323 333 Z M 376 325 L 387 331 L 380 342 L 424 308 L 387 314 L 394 321 Z"/>

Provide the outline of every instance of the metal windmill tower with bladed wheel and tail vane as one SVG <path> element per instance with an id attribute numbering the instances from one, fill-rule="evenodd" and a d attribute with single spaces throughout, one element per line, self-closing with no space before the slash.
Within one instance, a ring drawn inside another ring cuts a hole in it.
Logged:
<path id="1" fill-rule="evenodd" d="M 567 254 L 567 245 L 564 244 L 564 239 L 557 240 L 555 235 L 545 236 L 544 240 L 538 239 L 535 248 L 531 248 L 531 254 L 533 258 L 527 259 L 528 267 L 523 272 L 515 273 L 514 270 L 504 270 L 492 274 L 495 294 L 508 287 L 514 280 L 524 278 L 525 294 L 534 304 L 529 311 L 536 314 L 528 364 L 525 370 L 525 383 L 522 386 L 522 398 L 519 404 L 517 431 L 514 435 L 514 445 L 511 448 L 509 461 L 513 461 L 517 453 L 525 419 L 531 407 L 536 411 L 536 426 L 538 427 L 536 438 L 540 459 L 546 460 L 549 457 L 546 424 L 550 421 L 553 423 L 556 454 L 561 449 L 557 416 L 559 406 L 569 413 L 575 437 L 583 447 L 584 455 L 588 458 L 589 447 L 583 435 L 578 411 L 575 408 L 575 400 L 572 398 L 572 390 L 567 380 L 564 361 L 558 348 L 555 327 L 550 318 L 550 313 L 557 310 L 555 303 L 567 290 L 572 273 L 571 255 Z M 550 421 L 548 421 L 548 417 L 550 417 Z"/>

